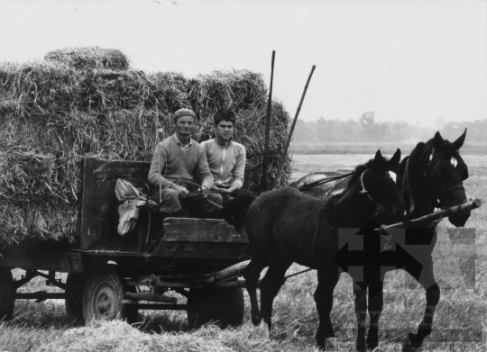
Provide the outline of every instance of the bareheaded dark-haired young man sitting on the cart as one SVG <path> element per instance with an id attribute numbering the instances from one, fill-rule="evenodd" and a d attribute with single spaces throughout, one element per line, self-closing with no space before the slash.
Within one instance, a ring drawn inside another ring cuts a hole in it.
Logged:
<path id="1" fill-rule="evenodd" d="M 245 148 L 232 140 L 236 122 L 235 113 L 220 110 L 213 117 L 216 138 L 201 145 L 207 154 L 213 175 L 213 188 L 228 193 L 242 188 L 245 172 Z"/>

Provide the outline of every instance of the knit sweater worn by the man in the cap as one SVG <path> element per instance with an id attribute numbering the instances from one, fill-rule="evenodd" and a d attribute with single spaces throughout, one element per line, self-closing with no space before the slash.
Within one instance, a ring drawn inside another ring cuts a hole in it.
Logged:
<path id="1" fill-rule="evenodd" d="M 207 156 L 195 140 L 190 140 L 190 144 L 183 148 L 176 135 L 172 135 L 156 146 L 149 170 L 149 182 L 152 185 L 161 182 L 162 189 L 170 188 L 177 178 L 196 182 L 196 176 L 201 179 L 201 185 L 211 189 L 213 176 Z"/>

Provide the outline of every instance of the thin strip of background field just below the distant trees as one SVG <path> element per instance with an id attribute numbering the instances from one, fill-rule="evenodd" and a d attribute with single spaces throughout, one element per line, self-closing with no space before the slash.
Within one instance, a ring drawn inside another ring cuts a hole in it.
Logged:
<path id="1" fill-rule="evenodd" d="M 411 142 L 357 142 L 357 143 L 298 143 L 291 142 L 289 152 L 299 154 L 375 154 L 381 149 L 384 154 L 393 154 L 396 149 L 409 155 L 418 140 Z M 469 142 L 468 136 L 461 149 L 462 155 L 487 155 L 487 142 Z"/>

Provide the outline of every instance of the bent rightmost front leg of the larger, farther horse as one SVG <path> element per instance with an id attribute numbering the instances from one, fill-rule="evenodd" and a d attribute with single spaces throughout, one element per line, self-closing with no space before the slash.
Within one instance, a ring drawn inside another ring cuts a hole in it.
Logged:
<path id="1" fill-rule="evenodd" d="M 425 314 L 423 320 L 419 323 L 418 332 L 416 334 L 409 333 L 409 341 L 405 343 L 403 348 L 405 351 L 416 351 L 423 344 L 423 340 L 431 333 L 436 304 L 440 298 L 440 289 L 438 284 L 436 284 L 433 273 L 433 259 L 431 255 L 427 257 L 427 262 L 423 266 L 406 266 L 405 269 L 425 288 L 427 296 Z"/>

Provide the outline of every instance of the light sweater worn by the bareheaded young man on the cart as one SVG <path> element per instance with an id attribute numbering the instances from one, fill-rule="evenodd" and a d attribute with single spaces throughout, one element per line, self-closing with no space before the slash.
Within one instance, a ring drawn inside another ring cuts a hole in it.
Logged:
<path id="1" fill-rule="evenodd" d="M 245 172 L 245 148 L 242 144 L 230 140 L 223 143 L 217 139 L 201 143 L 217 187 L 228 188 L 232 185 L 242 188 Z"/>

